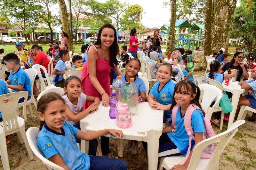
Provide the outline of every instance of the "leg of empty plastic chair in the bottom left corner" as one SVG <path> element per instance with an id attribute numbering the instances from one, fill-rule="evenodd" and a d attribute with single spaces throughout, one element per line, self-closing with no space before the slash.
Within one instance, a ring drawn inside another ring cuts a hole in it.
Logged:
<path id="1" fill-rule="evenodd" d="M 4 169 L 10 169 L 9 159 L 8 159 L 8 152 L 7 152 L 7 145 L 5 142 L 5 134 L 2 133 L 0 135 L 0 156 L 2 159 L 2 164 Z"/>

